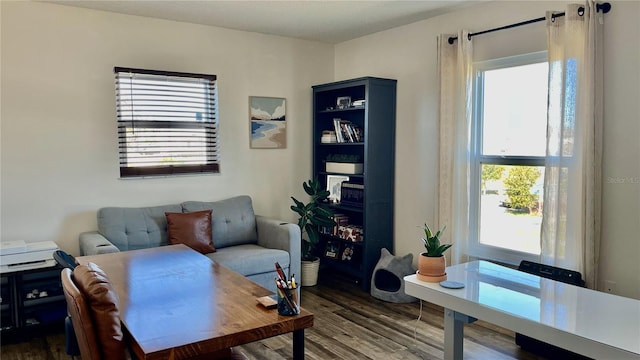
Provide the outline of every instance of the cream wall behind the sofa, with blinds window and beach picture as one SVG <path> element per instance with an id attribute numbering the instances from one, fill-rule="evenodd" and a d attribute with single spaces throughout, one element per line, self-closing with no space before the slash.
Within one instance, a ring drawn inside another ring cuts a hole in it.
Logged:
<path id="1" fill-rule="evenodd" d="M 311 85 L 333 46 L 49 3 L 1 5 L 1 240 L 78 254 L 103 206 L 253 197 L 294 220 L 311 173 Z M 113 67 L 218 76 L 221 172 L 119 180 Z M 248 97 L 287 99 L 287 149 L 249 149 Z"/>

